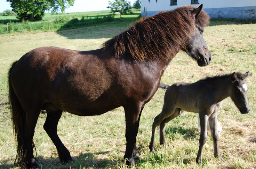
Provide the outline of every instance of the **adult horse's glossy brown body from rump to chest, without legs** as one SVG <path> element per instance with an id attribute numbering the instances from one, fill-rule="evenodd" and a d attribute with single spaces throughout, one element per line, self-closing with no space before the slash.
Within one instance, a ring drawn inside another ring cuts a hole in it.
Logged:
<path id="1" fill-rule="evenodd" d="M 20 58 L 11 81 L 18 97 L 26 102 L 77 115 L 97 115 L 130 102 L 149 101 L 153 92 L 148 91 L 157 90 L 151 81 L 160 81 L 159 72 L 148 76 L 147 72 L 157 70 L 151 67 L 118 59 L 101 49 L 42 47 Z M 144 69 L 150 70 L 142 72 Z"/>

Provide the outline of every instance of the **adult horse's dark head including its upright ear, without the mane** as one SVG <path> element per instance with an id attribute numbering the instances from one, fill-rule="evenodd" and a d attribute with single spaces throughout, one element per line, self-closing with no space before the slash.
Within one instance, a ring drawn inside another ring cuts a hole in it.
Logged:
<path id="1" fill-rule="evenodd" d="M 191 11 L 191 17 L 194 20 L 196 29 L 190 36 L 188 43 L 183 50 L 189 56 L 194 58 L 199 66 L 207 66 L 210 64 L 212 53 L 208 49 L 207 44 L 203 38 L 204 25 L 200 25 L 200 21 L 198 21 L 199 19 L 197 19 L 200 18 L 200 15 L 205 15 L 205 12 L 201 12 L 202 8 L 203 4 Z"/>

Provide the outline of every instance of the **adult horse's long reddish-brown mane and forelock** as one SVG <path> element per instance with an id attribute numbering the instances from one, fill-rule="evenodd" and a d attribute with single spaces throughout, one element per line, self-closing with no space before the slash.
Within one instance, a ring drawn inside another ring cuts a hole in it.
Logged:
<path id="1" fill-rule="evenodd" d="M 209 23 L 209 15 L 202 10 L 195 25 L 190 13 L 194 9 L 193 5 L 185 5 L 140 18 L 128 30 L 106 41 L 104 50 L 113 47 L 117 58 L 127 53 L 140 61 L 174 57 L 175 51 L 184 48 L 196 25 L 205 27 Z"/>

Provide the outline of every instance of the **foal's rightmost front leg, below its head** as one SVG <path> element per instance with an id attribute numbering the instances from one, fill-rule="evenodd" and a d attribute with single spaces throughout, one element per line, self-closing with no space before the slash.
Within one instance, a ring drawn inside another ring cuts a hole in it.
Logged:
<path id="1" fill-rule="evenodd" d="M 211 135 L 213 140 L 213 150 L 214 150 L 214 156 L 219 157 L 220 160 L 223 161 L 223 159 L 220 156 L 220 149 L 219 149 L 219 129 L 217 127 L 217 121 L 218 121 L 218 113 L 212 114 L 211 117 L 209 117 L 209 124 L 211 129 Z"/>

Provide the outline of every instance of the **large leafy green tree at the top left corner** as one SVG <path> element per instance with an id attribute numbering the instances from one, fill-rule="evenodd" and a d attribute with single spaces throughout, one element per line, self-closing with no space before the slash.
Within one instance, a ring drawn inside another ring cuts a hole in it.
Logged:
<path id="1" fill-rule="evenodd" d="M 11 3 L 12 11 L 20 20 L 41 20 L 44 11 L 64 12 L 75 0 L 6 0 Z"/>

